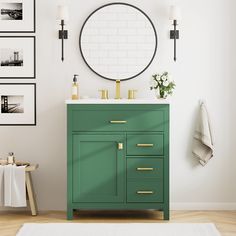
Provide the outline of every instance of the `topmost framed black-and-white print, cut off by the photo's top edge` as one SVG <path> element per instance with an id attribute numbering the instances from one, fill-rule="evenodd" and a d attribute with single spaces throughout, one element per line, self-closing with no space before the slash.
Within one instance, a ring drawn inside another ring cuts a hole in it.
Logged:
<path id="1" fill-rule="evenodd" d="M 0 33 L 34 33 L 35 0 L 0 0 Z"/>

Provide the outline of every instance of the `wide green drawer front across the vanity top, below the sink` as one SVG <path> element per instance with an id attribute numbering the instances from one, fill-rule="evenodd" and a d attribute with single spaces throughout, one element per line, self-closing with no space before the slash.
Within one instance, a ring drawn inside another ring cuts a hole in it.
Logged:
<path id="1" fill-rule="evenodd" d="M 163 110 L 73 110 L 72 131 L 163 131 Z"/>

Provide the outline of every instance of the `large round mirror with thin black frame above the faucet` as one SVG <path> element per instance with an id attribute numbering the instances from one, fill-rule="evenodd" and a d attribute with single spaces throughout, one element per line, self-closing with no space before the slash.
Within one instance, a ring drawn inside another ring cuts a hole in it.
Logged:
<path id="1" fill-rule="evenodd" d="M 126 3 L 111 3 L 94 12 L 80 32 L 85 63 L 108 80 L 129 80 L 143 73 L 157 49 L 157 34 L 150 18 Z"/>

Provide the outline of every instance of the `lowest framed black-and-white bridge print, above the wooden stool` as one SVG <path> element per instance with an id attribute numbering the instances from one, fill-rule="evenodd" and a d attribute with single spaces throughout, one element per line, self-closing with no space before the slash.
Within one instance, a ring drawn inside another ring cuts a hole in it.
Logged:
<path id="1" fill-rule="evenodd" d="M 36 84 L 0 83 L 0 125 L 36 125 Z"/>

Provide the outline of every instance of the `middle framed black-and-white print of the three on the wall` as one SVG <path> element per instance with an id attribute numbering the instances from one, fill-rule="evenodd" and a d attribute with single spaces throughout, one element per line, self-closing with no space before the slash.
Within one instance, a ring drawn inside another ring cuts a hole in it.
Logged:
<path id="1" fill-rule="evenodd" d="M 0 36 L 0 79 L 35 78 L 35 37 Z"/>

